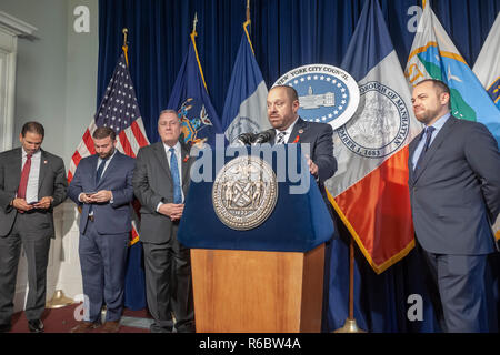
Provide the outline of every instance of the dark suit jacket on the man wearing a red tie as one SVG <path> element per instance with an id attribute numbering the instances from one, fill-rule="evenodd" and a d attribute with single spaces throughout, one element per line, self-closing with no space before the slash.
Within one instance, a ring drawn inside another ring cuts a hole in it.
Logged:
<path id="1" fill-rule="evenodd" d="M 18 192 L 21 168 L 22 148 L 0 153 L 0 237 L 10 233 L 18 214 L 18 210 L 9 204 Z M 41 150 L 38 196 L 52 196 L 53 201 L 48 210 L 29 212 L 30 227 L 39 229 L 40 233 L 54 237 L 53 207 L 66 200 L 67 190 L 64 162 L 61 158 Z"/>

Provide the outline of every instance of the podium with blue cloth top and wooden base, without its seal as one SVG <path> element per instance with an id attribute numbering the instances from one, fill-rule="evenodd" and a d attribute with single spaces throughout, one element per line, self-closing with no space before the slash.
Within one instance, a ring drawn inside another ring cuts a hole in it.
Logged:
<path id="1" fill-rule="evenodd" d="M 297 182 L 279 181 L 274 210 L 251 230 L 230 229 L 217 216 L 214 170 L 211 181 L 191 181 L 177 237 L 191 248 L 197 332 L 321 331 L 324 243 L 334 226 L 314 178 L 301 168 L 307 162 L 300 144 L 287 145 L 297 149 L 277 149 L 284 150 L 284 162 L 297 161 L 309 189 L 292 193 Z M 274 156 L 274 148 L 261 150 Z M 217 166 L 216 154 L 211 156 Z M 274 160 L 274 173 L 277 164 Z"/>

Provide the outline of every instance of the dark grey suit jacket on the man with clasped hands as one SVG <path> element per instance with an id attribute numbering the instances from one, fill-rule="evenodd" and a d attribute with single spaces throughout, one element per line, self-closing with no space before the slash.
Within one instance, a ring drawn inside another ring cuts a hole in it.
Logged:
<path id="1" fill-rule="evenodd" d="M 182 191 L 188 196 L 190 169 L 193 158 L 188 148 L 181 144 Z M 139 150 L 133 172 L 133 192 L 141 203 L 141 241 L 167 243 L 176 236 L 179 222 L 173 222 L 157 212 L 160 202 L 173 202 L 173 182 L 163 142 L 143 146 Z"/>

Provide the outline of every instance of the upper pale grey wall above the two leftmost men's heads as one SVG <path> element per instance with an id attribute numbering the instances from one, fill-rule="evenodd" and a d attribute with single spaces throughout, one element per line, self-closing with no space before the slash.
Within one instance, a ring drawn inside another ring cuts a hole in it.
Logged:
<path id="1" fill-rule="evenodd" d="M 73 9 L 90 10 L 90 32 L 76 33 Z M 36 40 L 19 39 L 14 146 L 30 120 L 46 128 L 43 149 L 69 165 L 96 111 L 98 0 L 0 0 L 0 10 L 34 27 Z"/>

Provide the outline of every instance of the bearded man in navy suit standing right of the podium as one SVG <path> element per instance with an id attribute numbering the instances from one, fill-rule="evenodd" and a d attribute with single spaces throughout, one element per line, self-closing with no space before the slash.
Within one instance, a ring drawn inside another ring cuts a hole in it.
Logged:
<path id="1" fill-rule="evenodd" d="M 500 156 L 488 129 L 450 115 L 450 90 L 424 80 L 412 94 L 426 125 L 410 143 L 409 187 L 416 237 L 429 266 L 444 332 L 488 332 L 492 291 L 490 223 L 500 212 Z"/>

